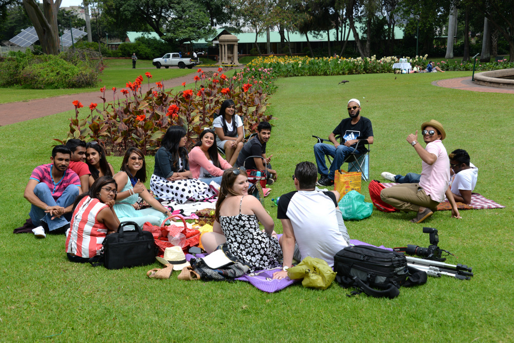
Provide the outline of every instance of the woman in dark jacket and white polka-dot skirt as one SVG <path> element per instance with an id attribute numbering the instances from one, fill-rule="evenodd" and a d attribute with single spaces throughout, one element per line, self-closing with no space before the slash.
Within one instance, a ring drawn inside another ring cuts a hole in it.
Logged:
<path id="1" fill-rule="evenodd" d="M 186 129 L 182 126 L 170 126 L 162 138 L 150 179 L 150 189 L 159 199 L 183 204 L 215 195 L 207 183 L 191 179 L 186 140 Z"/>

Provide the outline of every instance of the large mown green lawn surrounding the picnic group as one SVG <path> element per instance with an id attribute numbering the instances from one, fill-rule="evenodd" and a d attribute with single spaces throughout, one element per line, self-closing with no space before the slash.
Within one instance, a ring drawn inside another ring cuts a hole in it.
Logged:
<path id="1" fill-rule="evenodd" d="M 448 262 L 473 268 L 461 281 L 429 278 L 400 290 L 396 299 L 347 297 L 334 283 L 326 291 L 293 285 L 263 293 L 244 282 L 178 281 L 145 276 L 152 266 L 120 271 L 68 262 L 64 237 L 13 235 L 28 218 L 23 189 L 32 169 L 48 163 L 51 138 L 66 136 L 74 112 L 0 127 L 0 333 L 5 341 L 514 341 L 514 234 L 512 222 L 512 94 L 480 93 L 431 85 L 470 72 L 346 75 L 279 79 L 269 110 L 273 121 L 267 153 L 279 180 L 265 207 L 293 190 L 295 164 L 314 162 L 313 134 L 328 136 L 347 116 L 350 98 L 361 101 L 373 122 L 370 173 L 419 172 L 420 159 L 406 142 L 422 122 L 440 121 L 448 151 L 464 148 L 479 168 L 475 192 L 506 208 L 462 211 L 463 219 L 437 212 L 423 225 L 413 214 L 374 211 L 347 221 L 351 238 L 372 244 L 428 246 L 422 227 L 439 230 L 439 246 L 454 253 Z M 485 109 L 493 104 L 493 110 Z M 86 113 L 86 111 L 84 111 Z M 500 139 L 498 139 L 500 138 Z M 109 157 L 115 169 L 121 158 Z M 148 158 L 148 170 L 153 170 Z M 370 201 L 367 183 L 361 193 Z M 276 230 L 282 232 L 276 219 Z"/>

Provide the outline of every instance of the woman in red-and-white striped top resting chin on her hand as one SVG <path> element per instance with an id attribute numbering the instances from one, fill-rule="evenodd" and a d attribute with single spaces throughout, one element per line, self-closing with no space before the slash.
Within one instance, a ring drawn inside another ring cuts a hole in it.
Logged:
<path id="1" fill-rule="evenodd" d="M 71 262 L 85 263 L 98 256 L 104 238 L 118 231 L 120 221 L 113 209 L 116 189 L 111 176 L 101 176 L 75 200 L 66 237 L 66 255 Z"/>

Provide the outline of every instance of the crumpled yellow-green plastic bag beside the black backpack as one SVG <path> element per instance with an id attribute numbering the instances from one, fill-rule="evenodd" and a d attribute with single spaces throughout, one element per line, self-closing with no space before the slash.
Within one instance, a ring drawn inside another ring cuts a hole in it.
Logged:
<path id="1" fill-rule="evenodd" d="M 326 290 L 336 278 L 336 273 L 321 258 L 305 257 L 298 265 L 287 270 L 290 279 L 303 279 L 303 287 Z"/>

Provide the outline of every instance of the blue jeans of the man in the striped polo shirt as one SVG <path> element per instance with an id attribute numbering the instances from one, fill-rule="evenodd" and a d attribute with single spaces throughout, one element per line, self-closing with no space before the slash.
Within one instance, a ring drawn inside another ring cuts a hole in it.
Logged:
<path id="1" fill-rule="evenodd" d="M 48 188 L 46 183 L 40 182 L 34 187 L 34 194 L 39 198 L 39 200 L 43 201 L 48 206 L 57 205 L 61 207 L 68 207 L 75 201 L 75 198 L 78 197 L 79 187 L 76 185 L 67 186 L 61 197 L 56 201 L 53 199 L 52 192 L 50 192 L 50 188 Z M 38 206 L 34 205 L 30 207 L 29 212 L 29 217 L 32 219 L 34 226 L 40 226 L 44 222 L 48 225 L 48 230 L 50 232 L 69 224 L 71 215 L 71 212 L 66 213 L 61 217 L 54 218 L 52 220 L 52 216 L 50 216 L 49 213 L 46 213 L 43 208 L 39 208 Z"/>

